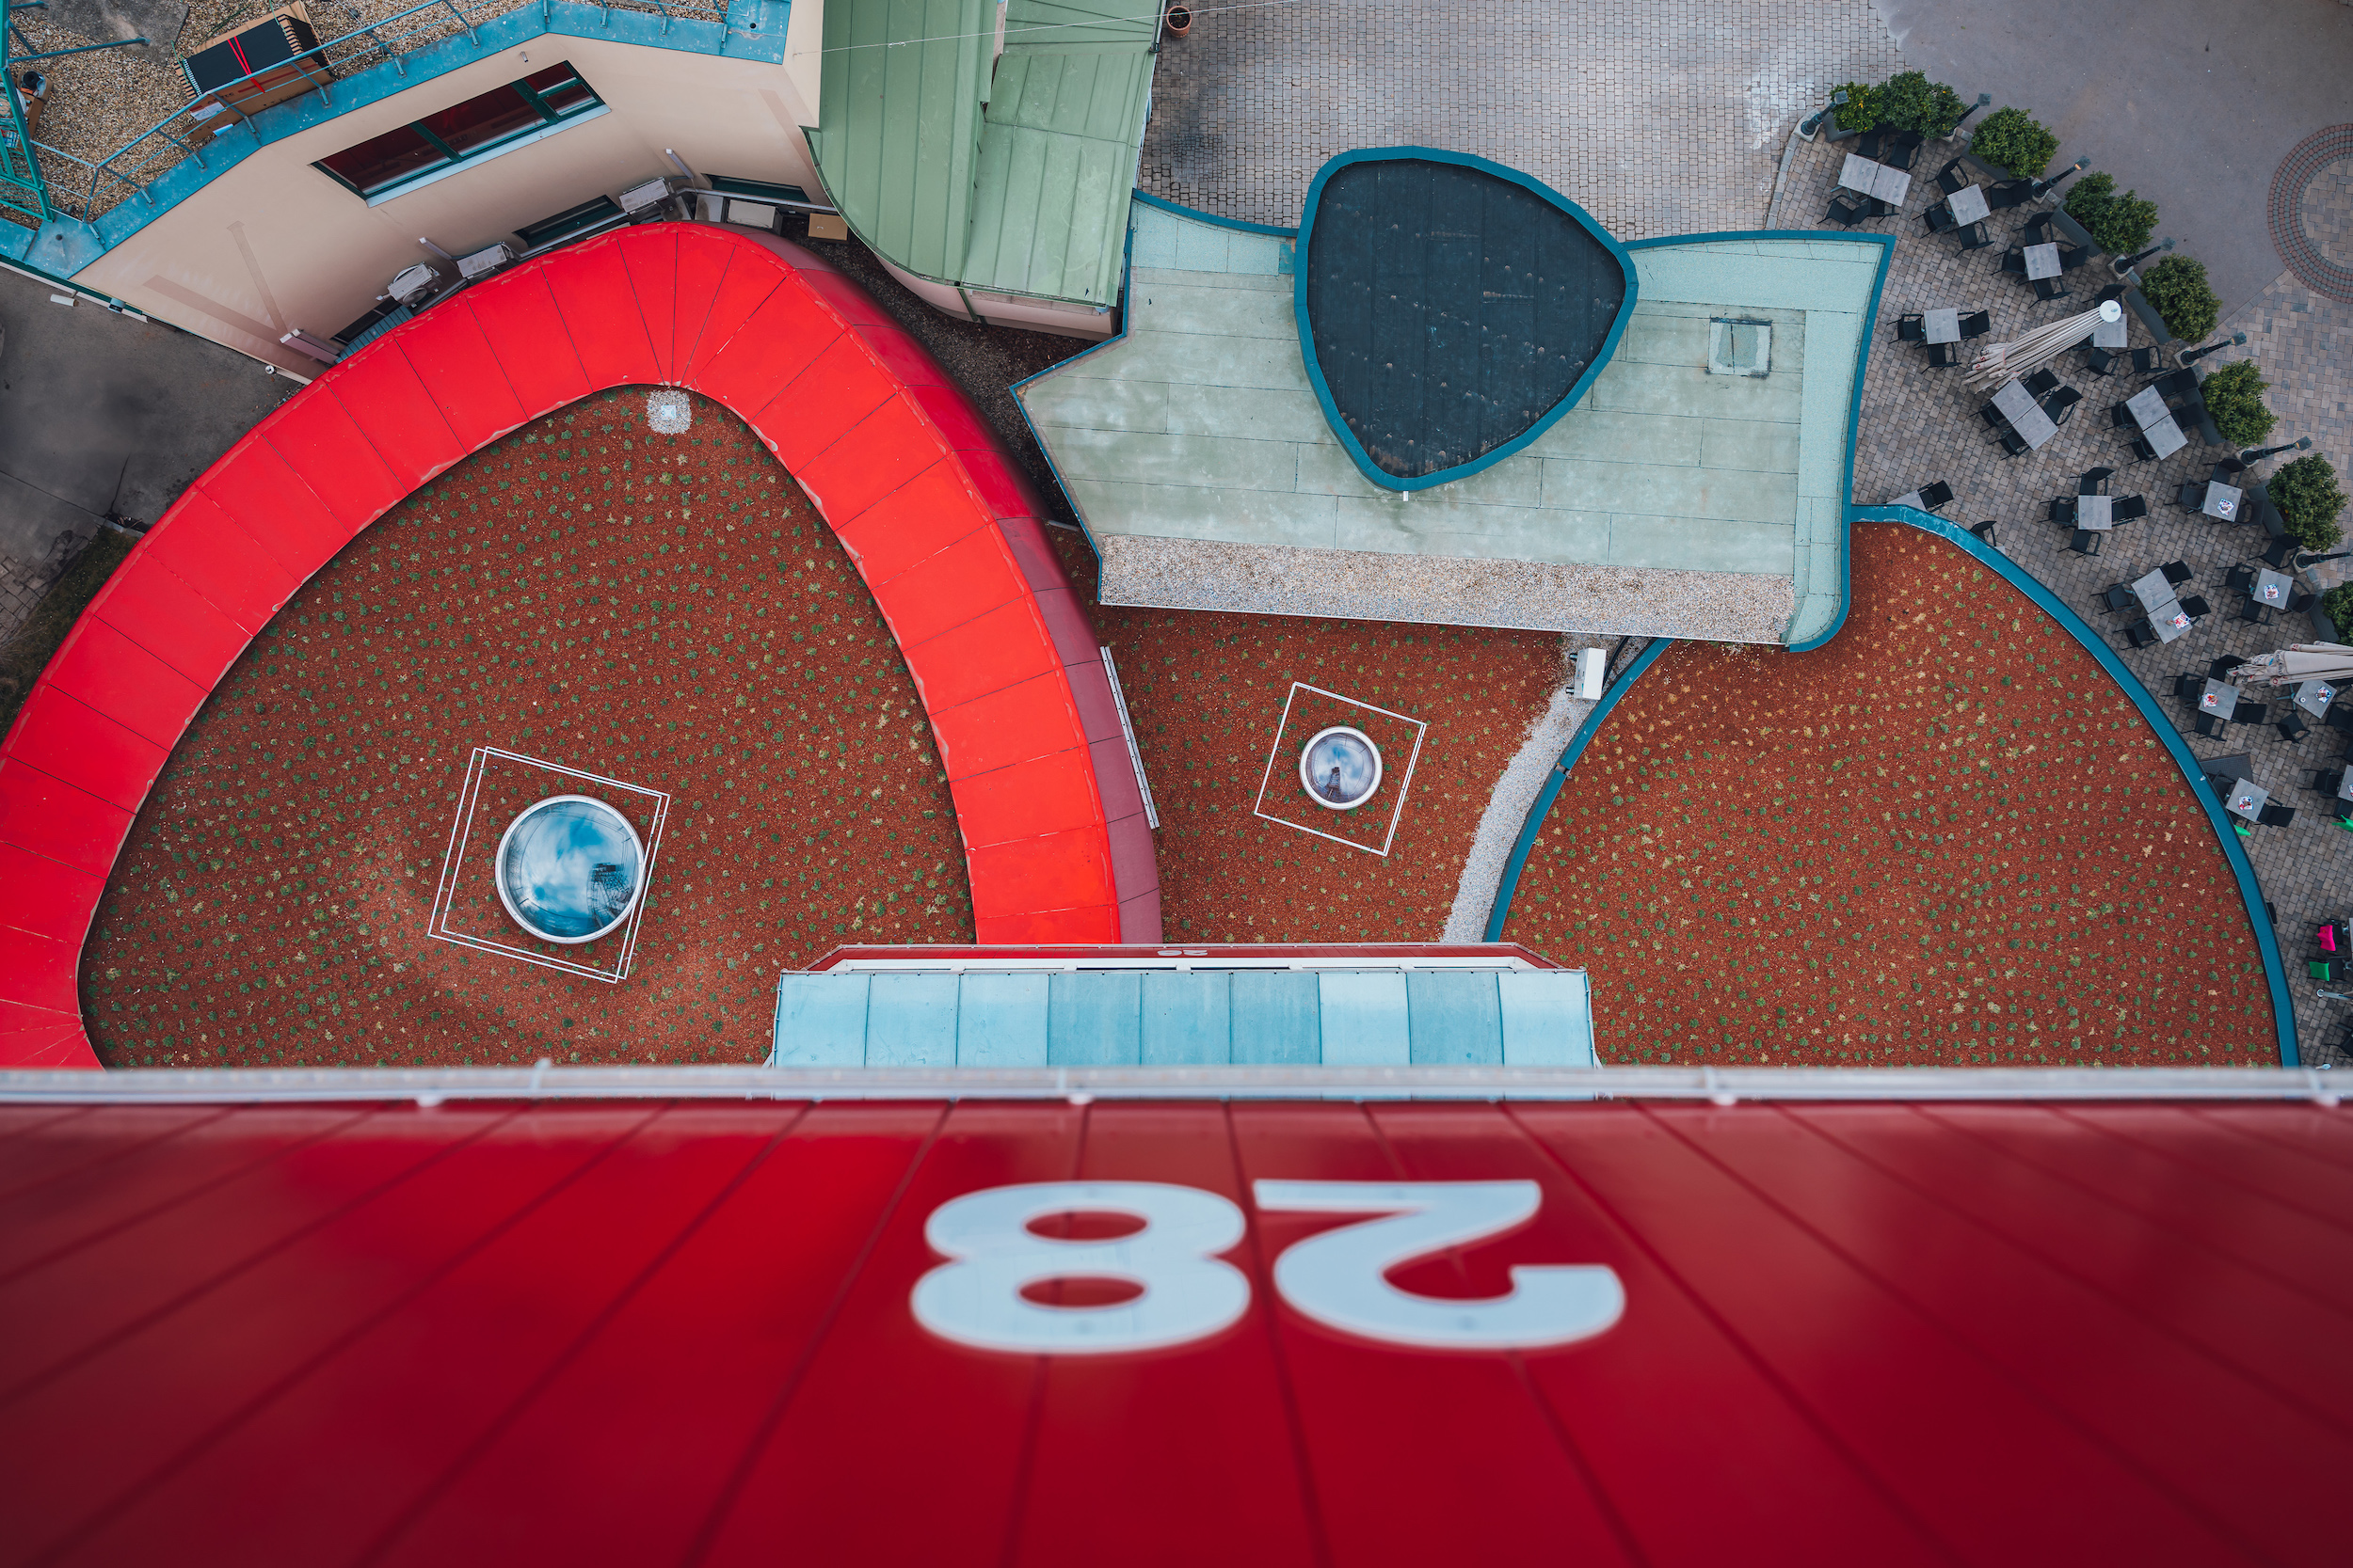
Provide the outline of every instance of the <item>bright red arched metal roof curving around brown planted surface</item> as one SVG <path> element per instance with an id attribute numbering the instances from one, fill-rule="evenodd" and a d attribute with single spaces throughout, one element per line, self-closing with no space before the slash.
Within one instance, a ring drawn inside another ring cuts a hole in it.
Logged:
<path id="1" fill-rule="evenodd" d="M 946 371 L 809 252 L 647 223 L 518 266 L 289 397 L 132 550 L 0 743 L 0 1067 L 96 1067 L 75 969 L 179 733 L 313 571 L 419 484 L 612 386 L 767 442 L 889 623 L 955 792 L 981 943 L 1155 943 L 1151 830 L 1042 508 Z"/>

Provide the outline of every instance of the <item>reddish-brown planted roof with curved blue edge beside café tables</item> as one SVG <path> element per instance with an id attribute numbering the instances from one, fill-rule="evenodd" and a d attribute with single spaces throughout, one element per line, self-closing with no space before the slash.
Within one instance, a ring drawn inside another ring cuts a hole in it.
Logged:
<path id="1" fill-rule="evenodd" d="M 1617 1063 L 2271 1065 L 2228 860 L 2132 703 L 1958 548 L 1854 527 L 1812 654 L 1668 649 L 1546 816 L 1508 940 Z"/>

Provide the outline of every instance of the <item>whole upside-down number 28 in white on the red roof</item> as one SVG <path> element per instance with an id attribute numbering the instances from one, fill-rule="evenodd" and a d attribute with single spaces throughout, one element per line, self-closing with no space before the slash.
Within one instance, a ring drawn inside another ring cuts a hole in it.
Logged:
<path id="1" fill-rule="evenodd" d="M 1257 1182 L 1259 1208 L 1362 1213 L 1275 1260 L 1275 1291 L 1327 1328 L 1417 1349 L 1534 1349 L 1586 1340 L 1626 1312 L 1617 1269 L 1511 1269 L 1511 1293 L 1440 1300 L 1388 1284 L 1414 1258 L 1499 1237 L 1534 1218 L 1537 1182 Z M 1071 1241 L 1031 1229 L 1059 1213 L 1118 1213 L 1144 1229 Z M 1249 1276 L 1217 1253 L 1242 1239 L 1242 1211 L 1172 1182 L 1024 1182 L 967 1192 L 932 1211 L 925 1239 L 951 1262 L 915 1281 L 915 1321 L 974 1349 L 1101 1356 L 1205 1340 L 1249 1309 Z M 1068 1279 L 1115 1279 L 1141 1295 L 1056 1307 L 1026 1295 Z"/>

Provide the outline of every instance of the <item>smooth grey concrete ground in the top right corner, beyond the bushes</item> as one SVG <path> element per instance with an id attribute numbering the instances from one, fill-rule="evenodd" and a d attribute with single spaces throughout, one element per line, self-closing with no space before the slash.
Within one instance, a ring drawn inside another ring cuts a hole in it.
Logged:
<path id="1" fill-rule="evenodd" d="M 1904 61 L 2031 110 L 2064 169 L 2089 158 L 2158 202 L 2224 310 L 2280 275 L 2264 202 L 2308 134 L 2353 120 L 2353 7 L 2337 0 L 1873 0 Z"/>

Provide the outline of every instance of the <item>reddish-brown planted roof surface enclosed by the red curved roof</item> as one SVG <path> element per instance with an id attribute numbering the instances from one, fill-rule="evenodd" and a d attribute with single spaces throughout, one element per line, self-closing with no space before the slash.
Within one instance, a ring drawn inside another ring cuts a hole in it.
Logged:
<path id="1" fill-rule="evenodd" d="M 671 792 L 628 980 L 426 936 L 478 745 Z M 254 642 L 115 863 L 82 1016 L 106 1065 L 760 1060 L 776 973 L 840 940 L 972 940 L 915 684 L 751 433 L 694 400 L 652 435 L 624 388 L 421 489 Z"/>

